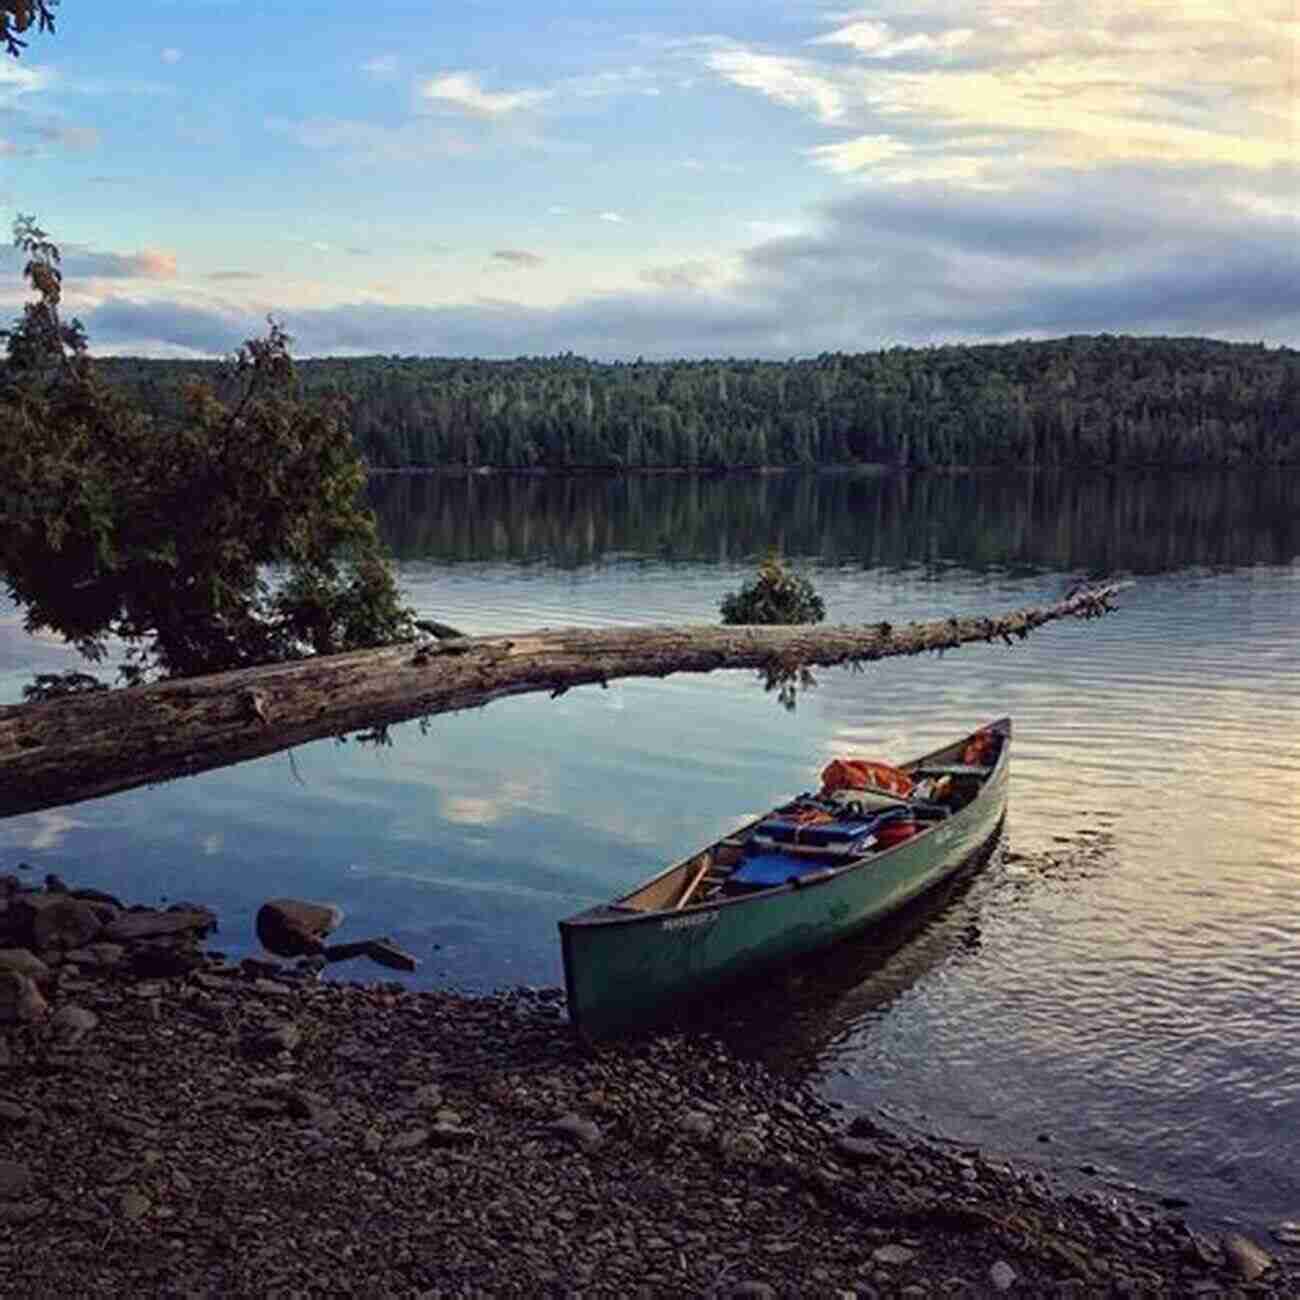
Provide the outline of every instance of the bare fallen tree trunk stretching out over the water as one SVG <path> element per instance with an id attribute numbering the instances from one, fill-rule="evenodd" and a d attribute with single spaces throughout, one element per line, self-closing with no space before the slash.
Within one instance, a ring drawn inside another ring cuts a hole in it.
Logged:
<path id="1" fill-rule="evenodd" d="M 1127 584 L 1124 584 L 1127 585 Z M 758 668 L 770 684 L 809 667 L 1013 642 L 1113 608 L 1119 585 L 988 619 L 893 628 L 558 628 L 387 646 L 95 692 L 0 710 L 0 815 L 112 794 L 346 732 L 491 699 L 618 677 Z"/>

